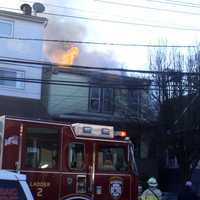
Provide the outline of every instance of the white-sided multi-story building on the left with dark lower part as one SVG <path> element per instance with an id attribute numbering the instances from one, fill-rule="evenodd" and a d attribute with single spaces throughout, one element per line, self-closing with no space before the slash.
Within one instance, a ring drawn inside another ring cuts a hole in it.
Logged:
<path id="1" fill-rule="evenodd" d="M 31 108 L 34 105 L 35 108 L 44 110 L 38 102 L 41 99 L 41 84 L 22 81 L 41 79 L 42 65 L 5 61 L 41 61 L 43 42 L 40 39 L 43 39 L 46 24 L 46 18 L 33 16 L 31 11 L 15 13 L 0 10 L 0 114 L 24 116 L 24 113 L 33 112 Z M 39 41 L 24 38 L 36 38 Z"/>

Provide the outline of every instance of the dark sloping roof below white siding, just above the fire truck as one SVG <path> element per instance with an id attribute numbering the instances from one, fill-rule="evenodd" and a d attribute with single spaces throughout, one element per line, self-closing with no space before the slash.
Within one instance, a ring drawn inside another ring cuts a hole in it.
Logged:
<path id="1" fill-rule="evenodd" d="M 0 96 L 0 115 L 50 119 L 40 100 Z"/>

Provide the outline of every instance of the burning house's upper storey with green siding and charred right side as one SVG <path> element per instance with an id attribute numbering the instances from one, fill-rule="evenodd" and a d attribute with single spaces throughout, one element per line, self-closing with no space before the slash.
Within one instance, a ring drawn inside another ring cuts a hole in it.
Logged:
<path id="1" fill-rule="evenodd" d="M 52 118 L 110 124 L 151 118 L 146 79 L 76 66 L 47 69 L 43 79 L 49 81 L 43 88 L 43 102 Z"/>

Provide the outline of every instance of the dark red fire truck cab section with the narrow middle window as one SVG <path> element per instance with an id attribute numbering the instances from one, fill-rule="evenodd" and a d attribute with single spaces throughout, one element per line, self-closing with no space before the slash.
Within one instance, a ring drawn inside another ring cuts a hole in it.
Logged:
<path id="1" fill-rule="evenodd" d="M 63 136 L 62 186 L 61 198 L 87 197 L 94 193 L 93 144 L 81 139 Z"/>

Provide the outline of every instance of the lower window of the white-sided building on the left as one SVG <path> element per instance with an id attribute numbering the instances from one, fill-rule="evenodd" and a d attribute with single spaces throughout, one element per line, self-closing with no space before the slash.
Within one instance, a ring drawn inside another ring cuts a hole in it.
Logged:
<path id="1" fill-rule="evenodd" d="M 0 69 L 0 77 L 0 85 L 17 89 L 24 88 L 24 82 L 15 80 L 16 78 L 24 78 L 23 71 Z"/>

